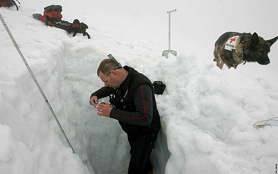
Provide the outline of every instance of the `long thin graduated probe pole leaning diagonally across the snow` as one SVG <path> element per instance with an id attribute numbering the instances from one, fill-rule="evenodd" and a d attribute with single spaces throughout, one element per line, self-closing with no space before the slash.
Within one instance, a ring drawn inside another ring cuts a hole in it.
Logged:
<path id="1" fill-rule="evenodd" d="M 45 96 L 44 93 L 43 93 L 42 88 L 40 87 L 40 85 L 39 85 L 39 83 L 38 83 L 36 77 L 34 76 L 34 74 L 33 74 L 32 70 L 31 70 L 31 68 L 29 67 L 29 65 L 28 65 L 28 63 L 27 63 L 27 61 L 26 61 L 26 59 L 24 58 L 24 56 L 23 56 L 23 54 L 21 53 L 21 51 L 20 51 L 20 49 L 19 49 L 17 43 L 15 42 L 13 36 L 11 35 L 11 32 L 10 32 L 8 26 L 6 25 L 6 23 L 5 23 L 5 21 L 4 21 L 3 17 L 2 17 L 2 15 L 1 15 L 1 13 L 0 13 L 0 20 L 1 20 L 1 22 L 2 22 L 2 24 L 3 24 L 3 26 L 4 26 L 4 28 L 6 29 L 8 35 L 9 35 L 9 37 L 10 37 L 10 39 L 11 39 L 13 45 L 14 45 L 14 47 L 16 48 L 17 52 L 19 53 L 20 57 L 22 58 L 22 60 L 23 60 L 23 62 L 24 62 L 24 64 L 25 64 L 25 66 L 27 67 L 29 73 L 31 74 L 31 76 L 32 76 L 32 78 L 33 78 L 33 80 L 34 80 L 34 82 L 36 83 L 36 85 L 37 85 L 39 91 L 41 92 L 41 94 L 42 94 L 42 96 L 43 96 L 43 98 L 44 98 L 44 100 L 45 100 L 45 102 L 46 102 L 46 104 L 47 104 L 47 106 L 48 106 L 50 112 L 52 113 L 52 115 L 53 115 L 54 119 L 56 120 L 56 122 L 57 122 L 57 124 L 58 124 L 58 126 L 59 126 L 59 128 L 60 128 L 60 130 L 61 130 L 61 132 L 63 133 L 65 139 L 67 140 L 67 142 L 68 142 L 68 144 L 69 144 L 69 146 L 70 146 L 70 148 L 72 149 L 72 152 L 75 154 L 73 148 L 72 148 L 71 145 L 70 145 L 70 141 L 69 141 L 68 137 L 66 136 L 66 134 L 65 134 L 65 132 L 64 132 L 64 130 L 63 130 L 63 128 L 62 128 L 62 126 L 61 126 L 61 124 L 60 124 L 58 118 L 56 117 L 54 111 L 52 110 L 52 108 L 51 108 L 51 106 L 50 106 L 50 104 L 49 104 L 49 102 L 48 102 L 46 96 Z"/>

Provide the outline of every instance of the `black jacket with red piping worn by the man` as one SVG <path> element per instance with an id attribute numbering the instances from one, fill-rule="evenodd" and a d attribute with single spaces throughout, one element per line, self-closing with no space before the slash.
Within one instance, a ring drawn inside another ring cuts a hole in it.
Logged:
<path id="1" fill-rule="evenodd" d="M 127 134 L 152 132 L 160 126 L 152 83 L 134 68 L 124 68 L 129 74 L 118 89 L 102 87 L 91 97 L 110 97 L 113 106 L 110 117 L 117 119 Z"/>

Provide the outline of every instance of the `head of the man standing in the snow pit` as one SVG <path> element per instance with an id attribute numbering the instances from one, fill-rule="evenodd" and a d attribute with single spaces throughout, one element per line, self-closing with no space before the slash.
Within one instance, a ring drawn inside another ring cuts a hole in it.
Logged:
<path id="1" fill-rule="evenodd" d="M 122 68 L 122 65 L 112 59 L 102 60 L 97 69 L 97 75 L 104 82 L 104 85 L 114 89 L 120 87 L 127 74 L 127 71 Z"/>

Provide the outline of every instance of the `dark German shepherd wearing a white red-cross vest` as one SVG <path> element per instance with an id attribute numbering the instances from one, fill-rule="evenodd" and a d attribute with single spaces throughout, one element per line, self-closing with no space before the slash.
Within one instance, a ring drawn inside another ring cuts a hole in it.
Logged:
<path id="1" fill-rule="evenodd" d="M 278 36 L 265 41 L 255 32 L 237 33 L 226 32 L 222 34 L 214 45 L 214 61 L 222 69 L 226 64 L 228 68 L 234 67 L 243 62 L 258 62 L 266 65 L 270 63 L 268 53 L 270 47 L 277 41 Z"/>

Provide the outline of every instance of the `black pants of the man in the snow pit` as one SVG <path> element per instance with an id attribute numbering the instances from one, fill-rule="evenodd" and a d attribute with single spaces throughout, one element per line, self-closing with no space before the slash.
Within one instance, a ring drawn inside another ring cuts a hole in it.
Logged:
<path id="1" fill-rule="evenodd" d="M 151 132 L 146 132 L 144 135 L 128 135 L 128 140 L 131 146 L 129 174 L 147 174 L 152 170 L 149 156 L 157 138 L 159 128 L 160 127 L 157 127 Z"/>

